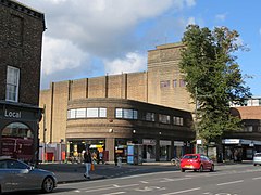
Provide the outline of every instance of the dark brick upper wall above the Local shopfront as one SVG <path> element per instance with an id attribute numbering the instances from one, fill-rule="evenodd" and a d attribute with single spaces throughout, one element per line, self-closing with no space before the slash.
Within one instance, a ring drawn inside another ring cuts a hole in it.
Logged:
<path id="1" fill-rule="evenodd" d="M 0 74 L 7 66 L 20 68 L 21 103 L 38 105 L 44 14 L 16 1 L 1 0 Z M 0 100 L 5 100 L 5 77 L 0 78 Z"/>

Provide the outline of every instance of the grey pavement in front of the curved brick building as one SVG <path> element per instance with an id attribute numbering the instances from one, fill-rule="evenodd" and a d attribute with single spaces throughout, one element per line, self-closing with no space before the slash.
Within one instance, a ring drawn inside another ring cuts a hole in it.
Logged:
<path id="1" fill-rule="evenodd" d="M 220 162 L 216 166 L 233 165 L 235 162 Z M 241 162 L 243 164 L 243 162 Z M 245 164 L 249 164 L 245 161 Z M 55 173 L 58 183 L 72 183 L 88 181 L 84 178 L 84 164 L 64 164 L 64 162 L 47 162 L 39 164 L 38 168 L 50 170 Z M 159 171 L 178 170 L 177 167 L 171 165 L 170 161 L 142 162 L 142 165 L 122 164 L 121 167 L 114 164 L 95 165 L 95 170 L 90 171 L 90 181 L 134 176 L 138 173 L 149 173 Z"/>

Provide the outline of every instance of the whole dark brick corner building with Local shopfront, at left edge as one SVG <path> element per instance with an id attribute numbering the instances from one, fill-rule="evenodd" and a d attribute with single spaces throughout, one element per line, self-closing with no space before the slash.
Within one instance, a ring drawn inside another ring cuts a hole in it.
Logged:
<path id="1" fill-rule="evenodd" d="M 38 161 L 39 150 L 41 109 L 38 105 L 45 28 L 42 13 L 17 1 L 0 0 L 0 155 L 35 162 Z M 17 68 L 20 73 L 15 102 L 5 101 L 8 66 Z M 13 123 L 15 136 L 12 135 Z M 33 140 L 29 147 L 28 143 L 21 142 L 26 140 L 23 130 L 33 133 L 32 138 L 26 136 Z"/>

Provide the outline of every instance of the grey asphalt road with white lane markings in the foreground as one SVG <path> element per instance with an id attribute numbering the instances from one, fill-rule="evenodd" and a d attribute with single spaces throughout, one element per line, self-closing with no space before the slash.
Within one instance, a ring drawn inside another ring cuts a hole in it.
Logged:
<path id="1" fill-rule="evenodd" d="M 261 167 L 219 166 L 214 172 L 162 171 L 60 184 L 55 195 L 260 195 Z"/>

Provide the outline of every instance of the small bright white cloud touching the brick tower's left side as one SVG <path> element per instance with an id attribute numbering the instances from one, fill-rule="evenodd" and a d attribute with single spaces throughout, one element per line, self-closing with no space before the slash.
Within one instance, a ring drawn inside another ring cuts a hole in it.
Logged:
<path id="1" fill-rule="evenodd" d="M 104 66 L 105 73 L 110 75 L 146 70 L 147 55 L 127 53 L 123 58 L 115 58 L 111 62 L 104 61 Z"/>

